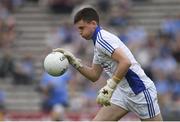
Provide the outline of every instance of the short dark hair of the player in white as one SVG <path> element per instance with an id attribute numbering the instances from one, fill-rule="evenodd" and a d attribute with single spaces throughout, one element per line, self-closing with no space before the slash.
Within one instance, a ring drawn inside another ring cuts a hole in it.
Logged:
<path id="1" fill-rule="evenodd" d="M 76 15 L 74 16 L 74 24 L 76 24 L 80 20 L 84 20 L 87 22 L 95 20 L 97 24 L 99 24 L 99 15 L 96 12 L 96 10 L 93 8 L 90 8 L 90 7 L 83 8 L 80 11 L 78 11 Z"/>

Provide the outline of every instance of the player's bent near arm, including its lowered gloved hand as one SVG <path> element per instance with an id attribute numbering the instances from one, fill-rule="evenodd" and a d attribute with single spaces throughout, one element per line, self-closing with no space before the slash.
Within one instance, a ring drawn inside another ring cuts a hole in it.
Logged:
<path id="1" fill-rule="evenodd" d="M 118 62 L 116 71 L 114 72 L 113 76 L 107 80 L 107 84 L 101 88 L 96 99 L 98 104 L 105 106 L 110 105 L 110 99 L 114 90 L 116 89 L 117 84 L 123 79 L 131 66 L 130 60 L 121 48 L 115 49 L 111 57 Z"/>

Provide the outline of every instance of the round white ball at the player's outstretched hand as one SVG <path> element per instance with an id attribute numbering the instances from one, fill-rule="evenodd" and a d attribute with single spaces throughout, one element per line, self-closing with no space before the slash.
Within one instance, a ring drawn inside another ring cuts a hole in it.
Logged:
<path id="1" fill-rule="evenodd" d="M 60 76 L 64 74 L 69 66 L 69 62 L 64 54 L 60 52 L 52 52 L 44 59 L 44 69 L 52 76 Z"/>

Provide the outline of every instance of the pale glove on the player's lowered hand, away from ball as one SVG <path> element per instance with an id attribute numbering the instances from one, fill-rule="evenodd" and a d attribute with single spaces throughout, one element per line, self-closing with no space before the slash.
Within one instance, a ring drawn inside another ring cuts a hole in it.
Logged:
<path id="1" fill-rule="evenodd" d="M 110 99 L 116 86 L 117 83 L 113 79 L 108 79 L 107 84 L 99 91 L 96 102 L 102 106 L 111 105 Z"/>

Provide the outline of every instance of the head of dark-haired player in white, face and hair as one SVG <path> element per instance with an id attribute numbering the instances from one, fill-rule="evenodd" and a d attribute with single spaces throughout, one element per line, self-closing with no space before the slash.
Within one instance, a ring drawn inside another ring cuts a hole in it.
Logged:
<path id="1" fill-rule="evenodd" d="M 79 10 L 74 17 L 74 24 L 78 28 L 80 35 L 89 40 L 99 25 L 99 15 L 95 9 L 86 7 Z"/>

